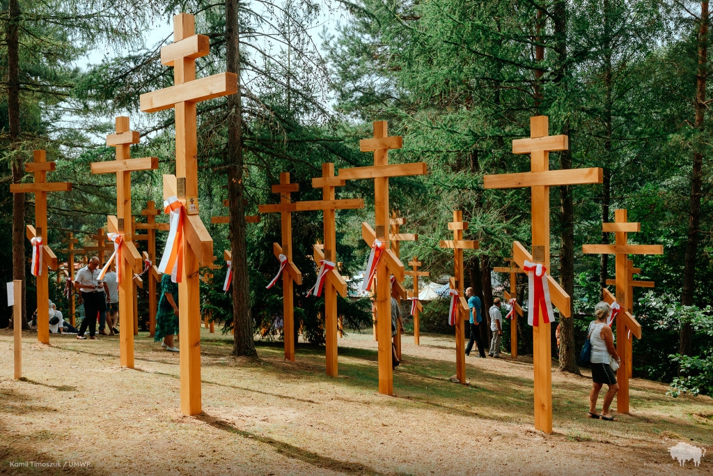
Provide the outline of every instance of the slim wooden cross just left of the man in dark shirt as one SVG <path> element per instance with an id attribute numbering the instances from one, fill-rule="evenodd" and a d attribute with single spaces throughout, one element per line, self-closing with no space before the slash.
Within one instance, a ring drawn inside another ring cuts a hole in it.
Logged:
<path id="1" fill-rule="evenodd" d="M 458 315 L 456 318 L 456 378 L 460 383 L 466 383 L 466 324 L 465 316 L 468 313 L 468 300 L 463 288 L 463 250 L 477 250 L 477 240 L 463 240 L 463 230 L 468 229 L 468 222 L 463 221 L 463 211 L 453 211 L 453 221 L 448 223 L 448 230 L 453 231 L 453 240 L 441 240 L 441 248 L 451 248 L 455 262 L 451 280 L 451 289 L 458 291 Z"/>

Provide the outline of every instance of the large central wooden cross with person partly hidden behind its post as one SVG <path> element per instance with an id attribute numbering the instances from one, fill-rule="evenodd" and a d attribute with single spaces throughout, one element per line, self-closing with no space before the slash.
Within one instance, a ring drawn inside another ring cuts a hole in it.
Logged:
<path id="1" fill-rule="evenodd" d="M 401 148 L 401 136 L 389 137 L 386 121 L 374 121 L 374 137 L 361 139 L 361 152 L 374 152 L 374 166 L 340 168 L 344 180 L 374 179 L 375 229 L 361 223 L 361 238 L 371 246 L 376 238 L 386 245 L 376 266 L 376 313 L 379 316 L 379 393 L 394 395 L 394 370 L 391 367 L 391 280 L 404 280 L 404 265 L 390 249 L 389 233 L 389 177 L 425 175 L 425 162 L 389 164 L 389 149 Z M 367 279 L 365 276 L 364 279 Z"/>

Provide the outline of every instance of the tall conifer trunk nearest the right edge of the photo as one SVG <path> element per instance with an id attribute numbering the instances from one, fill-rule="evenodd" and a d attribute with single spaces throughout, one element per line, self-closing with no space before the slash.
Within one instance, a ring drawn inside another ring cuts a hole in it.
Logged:
<path id="1" fill-rule="evenodd" d="M 701 2 L 701 16 L 698 31 L 698 71 L 696 74 L 696 136 L 693 149 L 693 170 L 691 178 L 691 198 L 688 215 L 688 238 L 686 241 L 686 258 L 683 268 L 683 291 L 681 303 L 693 305 L 694 286 L 696 282 L 696 254 L 698 250 L 699 224 L 701 220 L 701 188 L 703 182 L 703 153 L 701 151 L 706 139 L 703 137 L 706 113 L 706 82 L 708 76 L 708 2 Z M 690 355 L 692 351 L 692 329 L 690 324 L 684 324 L 680 331 L 679 353 Z"/>

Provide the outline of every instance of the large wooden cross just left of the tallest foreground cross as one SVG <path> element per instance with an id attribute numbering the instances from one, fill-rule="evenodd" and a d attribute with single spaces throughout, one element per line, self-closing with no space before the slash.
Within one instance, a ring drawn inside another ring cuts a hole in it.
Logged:
<path id="1" fill-rule="evenodd" d="M 143 260 L 133 244 L 133 221 L 131 216 L 131 172 L 158 168 L 158 157 L 131 157 L 131 144 L 138 143 L 139 133 L 129 128 L 129 118 L 116 118 L 116 133 L 106 136 L 106 145 L 116 147 L 116 160 L 93 162 L 91 173 L 116 173 L 116 216 L 108 216 L 107 228 L 110 233 L 118 233 L 121 238 L 123 260 L 119 263 L 122 274 L 119 285 L 119 315 L 121 333 L 119 335 L 119 355 L 121 366 L 134 368 L 133 336 L 134 324 L 138 318 L 134 313 L 136 288 L 133 283 L 134 271 L 143 270 Z"/>

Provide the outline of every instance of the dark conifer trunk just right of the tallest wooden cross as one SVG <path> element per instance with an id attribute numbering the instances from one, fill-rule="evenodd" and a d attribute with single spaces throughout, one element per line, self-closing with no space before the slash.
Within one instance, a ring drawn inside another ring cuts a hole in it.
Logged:
<path id="1" fill-rule="evenodd" d="M 237 74 L 237 93 L 227 96 L 227 191 L 230 201 L 230 248 L 232 249 L 232 324 L 235 329 L 233 355 L 257 355 L 250 313 L 250 278 L 245 247 L 245 187 L 242 183 L 242 95 L 240 91 L 240 19 L 238 1 L 225 0 L 227 71 Z"/>

